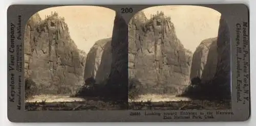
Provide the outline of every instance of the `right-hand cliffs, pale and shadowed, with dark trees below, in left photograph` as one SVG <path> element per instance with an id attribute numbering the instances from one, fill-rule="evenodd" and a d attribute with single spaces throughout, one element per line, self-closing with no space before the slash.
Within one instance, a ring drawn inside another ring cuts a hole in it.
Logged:
<path id="1" fill-rule="evenodd" d="M 97 41 L 87 56 L 83 87 L 76 96 L 100 96 L 127 102 L 127 24 L 116 13 L 112 38 Z M 93 85 L 93 86 L 91 86 Z"/>

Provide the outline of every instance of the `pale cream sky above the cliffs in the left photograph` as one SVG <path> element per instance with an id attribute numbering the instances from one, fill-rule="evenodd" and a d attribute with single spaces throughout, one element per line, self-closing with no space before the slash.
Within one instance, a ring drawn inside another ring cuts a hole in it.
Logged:
<path id="1" fill-rule="evenodd" d="M 97 40 L 112 37 L 116 15 L 114 10 L 96 6 L 62 6 L 47 8 L 38 13 L 44 19 L 51 11 L 65 17 L 71 38 L 86 53 Z"/>

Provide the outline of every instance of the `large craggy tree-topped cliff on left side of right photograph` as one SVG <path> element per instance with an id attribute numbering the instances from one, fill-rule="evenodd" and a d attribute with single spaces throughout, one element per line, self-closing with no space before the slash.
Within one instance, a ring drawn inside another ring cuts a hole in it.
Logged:
<path id="1" fill-rule="evenodd" d="M 192 53 L 177 38 L 170 17 L 146 19 L 137 13 L 129 23 L 129 78 L 140 93 L 178 94 L 189 85 Z"/>

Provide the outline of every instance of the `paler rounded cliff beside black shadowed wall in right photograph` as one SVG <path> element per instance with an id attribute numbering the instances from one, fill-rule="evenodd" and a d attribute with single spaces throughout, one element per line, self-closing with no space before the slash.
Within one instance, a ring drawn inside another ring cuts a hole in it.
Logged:
<path id="1" fill-rule="evenodd" d="M 193 55 L 190 79 L 198 77 L 202 83 L 205 83 L 214 78 L 217 59 L 217 37 L 203 40 Z"/>

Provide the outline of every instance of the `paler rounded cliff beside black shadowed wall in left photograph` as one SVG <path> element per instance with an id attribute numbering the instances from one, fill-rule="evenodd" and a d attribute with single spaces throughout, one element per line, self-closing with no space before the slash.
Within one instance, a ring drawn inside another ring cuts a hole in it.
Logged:
<path id="1" fill-rule="evenodd" d="M 97 41 L 87 55 L 84 80 L 94 78 L 96 84 L 105 84 L 111 69 L 111 38 Z"/>

